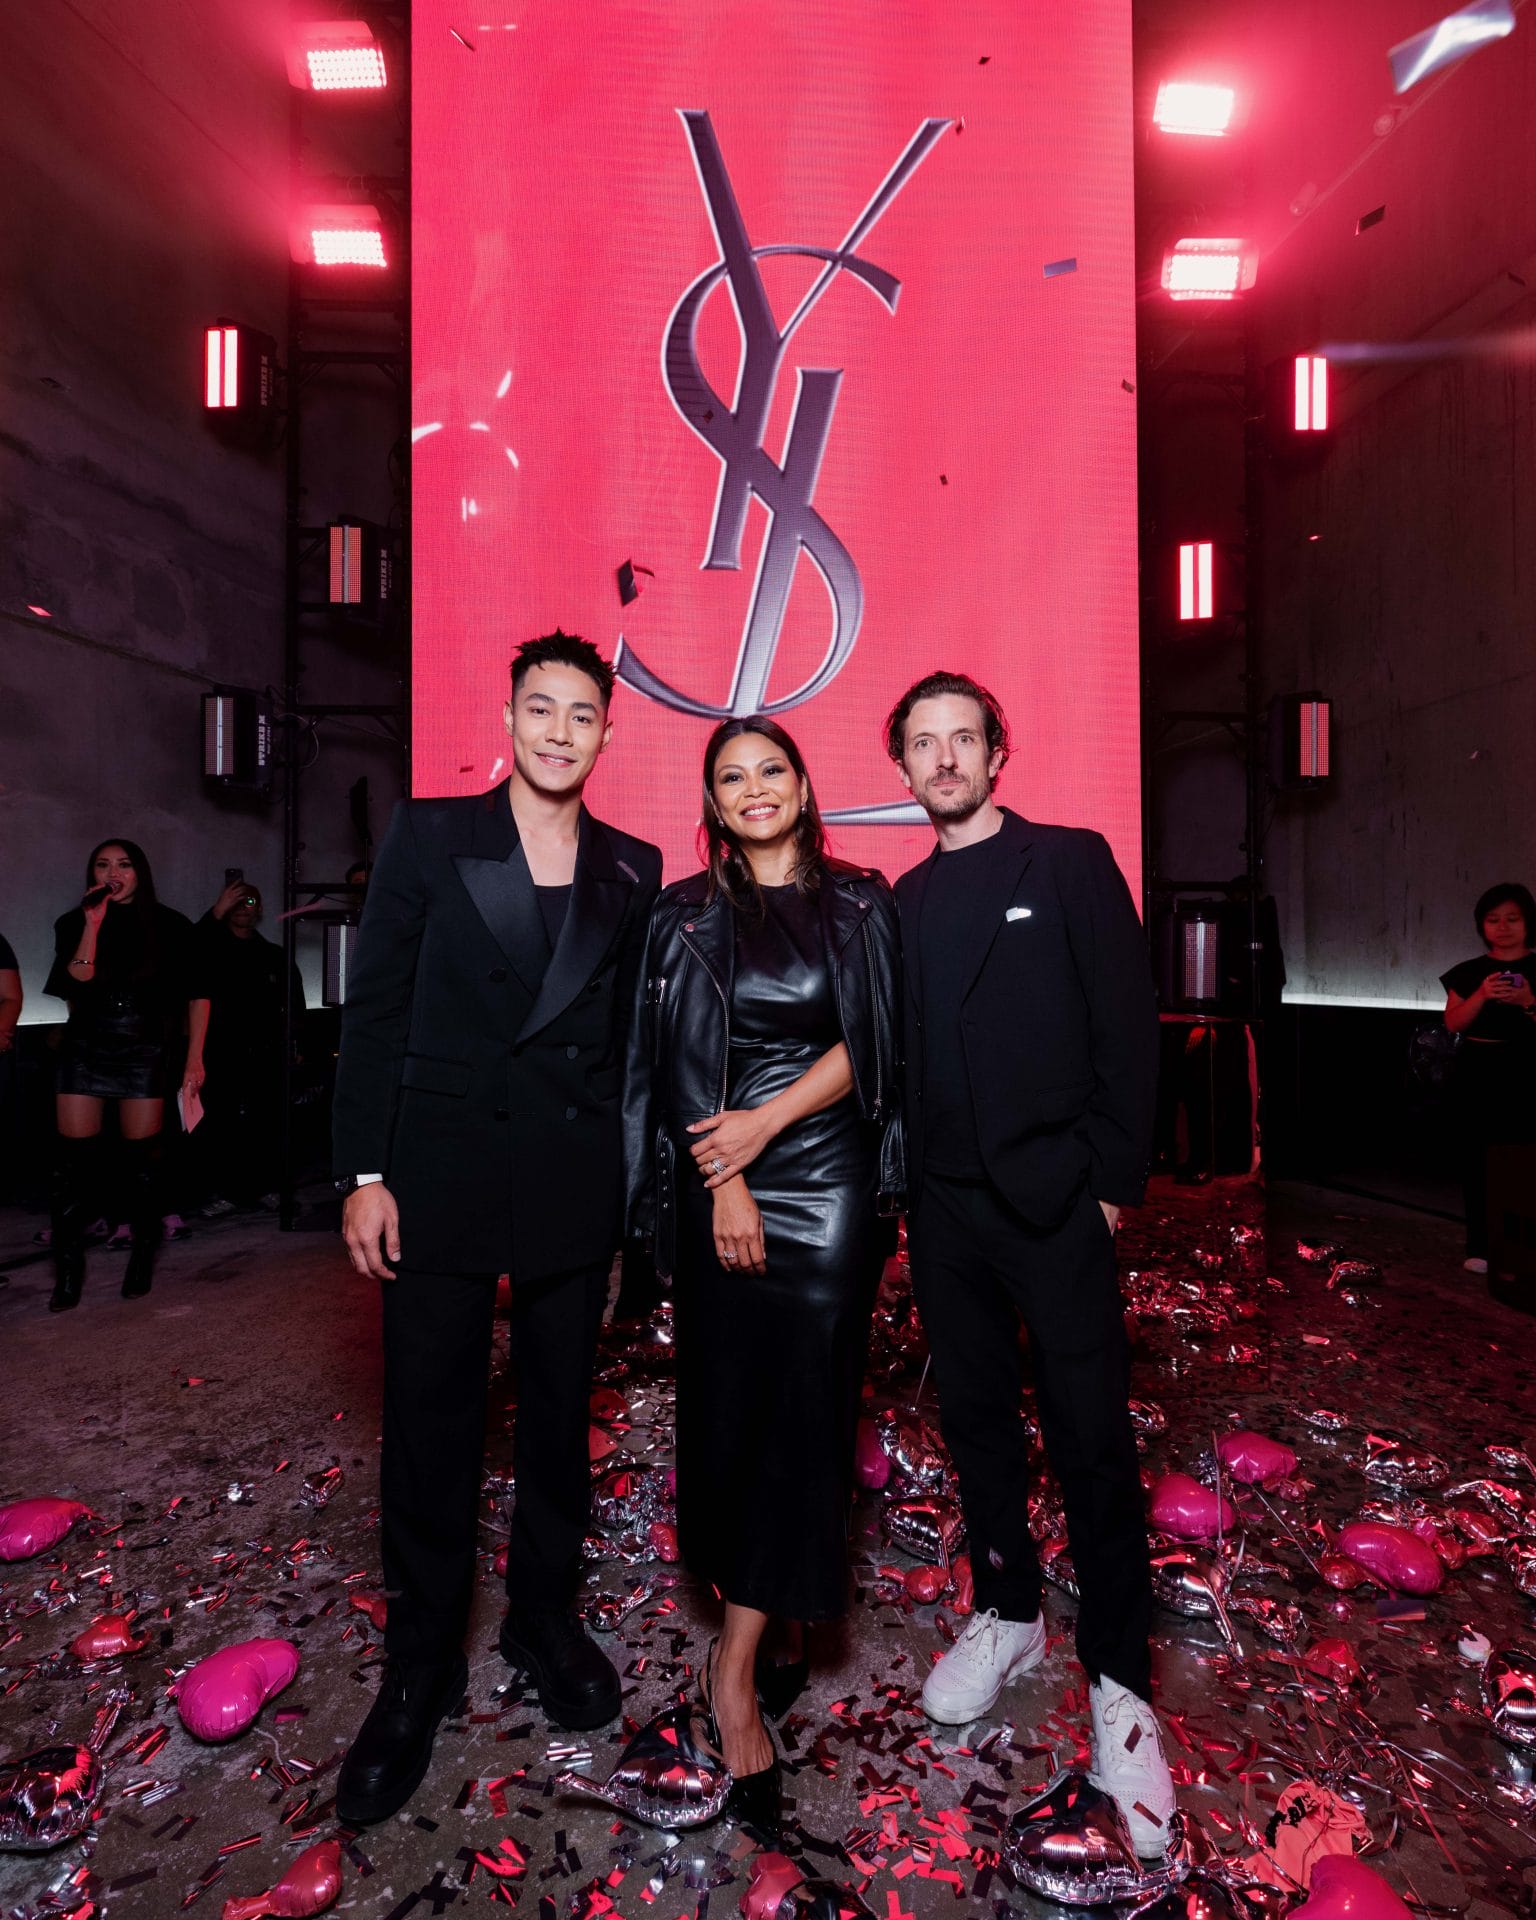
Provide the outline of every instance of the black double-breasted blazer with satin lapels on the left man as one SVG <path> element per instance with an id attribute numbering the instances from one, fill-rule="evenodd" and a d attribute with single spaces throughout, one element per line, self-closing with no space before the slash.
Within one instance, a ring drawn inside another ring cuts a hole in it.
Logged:
<path id="1" fill-rule="evenodd" d="M 407 1267 L 538 1279 L 618 1246 L 624 1029 L 659 887 L 660 852 L 582 808 L 545 970 L 507 787 L 396 806 L 348 981 L 332 1150 L 338 1175 L 388 1181 Z"/>

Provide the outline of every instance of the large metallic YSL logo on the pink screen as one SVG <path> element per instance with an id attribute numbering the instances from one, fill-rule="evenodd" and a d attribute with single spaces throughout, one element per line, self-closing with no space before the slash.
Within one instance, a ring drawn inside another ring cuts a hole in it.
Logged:
<path id="1" fill-rule="evenodd" d="M 705 549 L 705 570 L 739 572 L 741 536 L 747 528 L 747 505 L 753 493 L 768 509 L 770 526 L 758 559 L 753 603 L 735 659 L 735 676 L 724 703 L 716 705 L 680 693 L 678 687 L 670 687 L 653 674 L 630 647 L 620 649 L 616 666 L 618 678 L 637 693 L 645 693 L 678 712 L 697 714 L 705 720 L 724 720 L 726 714 L 776 714 L 812 699 L 837 678 L 849 662 L 864 618 L 864 582 L 858 578 L 852 555 L 812 505 L 843 371 L 835 367 L 797 369 L 795 411 L 783 449 L 783 467 L 778 467 L 764 451 L 762 436 L 768 430 L 768 411 L 774 403 L 783 355 L 799 326 L 839 273 L 851 273 L 862 280 L 885 303 L 887 313 L 897 311 L 900 280 L 885 273 L 883 267 L 860 259 L 856 250 L 950 123 L 947 119 L 922 123 L 839 248 L 755 248 L 747 238 L 747 225 L 735 204 L 735 192 L 708 113 L 684 113 L 682 121 L 693 146 L 693 165 L 699 173 L 720 259 L 699 275 L 678 301 L 666 328 L 662 372 L 672 405 L 720 461 L 720 488 L 714 495 L 714 524 Z M 783 328 L 774 319 L 758 273 L 758 261 L 772 253 L 795 253 L 803 259 L 822 261 L 822 271 L 810 292 Z M 699 315 L 722 280 L 735 303 L 743 338 L 733 405 L 728 405 L 705 378 L 697 349 Z M 831 637 L 816 672 L 793 693 L 770 701 L 768 676 L 774 670 L 774 655 L 801 549 L 810 555 L 826 584 L 831 601 Z"/>

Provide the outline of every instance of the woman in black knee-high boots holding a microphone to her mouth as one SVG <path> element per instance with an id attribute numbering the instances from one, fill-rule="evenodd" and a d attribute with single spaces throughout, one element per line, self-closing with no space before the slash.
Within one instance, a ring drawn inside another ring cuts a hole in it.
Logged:
<path id="1" fill-rule="evenodd" d="M 84 1223 L 98 1187 L 108 1100 L 117 1102 L 132 1252 L 129 1300 L 148 1294 L 159 1215 L 159 1133 L 171 1041 L 188 1016 L 202 1052 L 207 1000 L 194 998 L 192 924 L 156 900 L 144 851 L 113 839 L 84 866 L 84 900 L 54 922 L 46 993 L 69 1002 L 58 1079 L 60 1164 L 54 1177 L 54 1294 L 50 1313 L 81 1304 Z"/>

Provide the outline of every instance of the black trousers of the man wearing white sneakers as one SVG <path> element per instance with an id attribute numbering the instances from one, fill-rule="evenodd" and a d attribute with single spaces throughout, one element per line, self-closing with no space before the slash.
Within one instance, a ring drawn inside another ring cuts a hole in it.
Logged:
<path id="1" fill-rule="evenodd" d="M 989 1185 L 929 1177 L 908 1244 L 977 1609 L 996 1607 L 1004 1620 L 1033 1620 L 1041 1609 L 1020 1409 L 1023 1319 L 1081 1592 L 1077 1657 L 1091 1680 L 1110 1674 L 1148 1699 L 1146 1519 L 1114 1236 L 1098 1202 L 1083 1192 L 1064 1225 L 1044 1233 Z"/>

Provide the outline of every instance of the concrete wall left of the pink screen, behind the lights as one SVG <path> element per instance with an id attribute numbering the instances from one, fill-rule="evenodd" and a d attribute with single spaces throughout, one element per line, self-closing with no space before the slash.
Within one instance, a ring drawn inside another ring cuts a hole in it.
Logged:
<path id="1" fill-rule="evenodd" d="M 0 929 L 29 1021 L 61 1018 L 52 922 L 109 833 L 192 916 L 225 866 L 276 902 L 280 812 L 205 789 L 200 693 L 282 678 L 282 455 L 207 430 L 200 351 L 221 315 L 284 334 L 284 19 L 278 0 L 0 10 Z M 323 678 L 309 697 L 394 687 L 367 643 Z M 365 770 L 382 826 L 392 755 L 326 745 L 309 872 L 349 858 Z"/>

